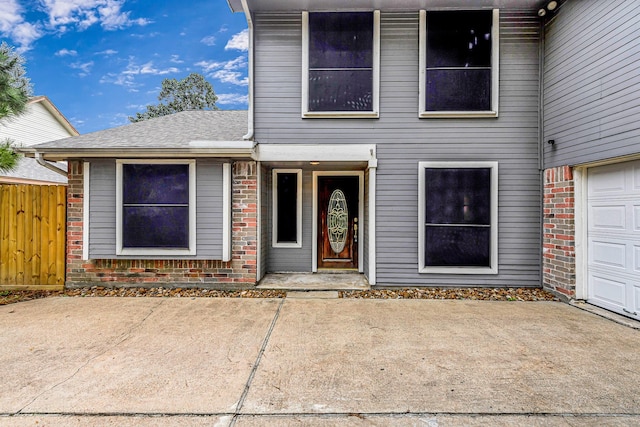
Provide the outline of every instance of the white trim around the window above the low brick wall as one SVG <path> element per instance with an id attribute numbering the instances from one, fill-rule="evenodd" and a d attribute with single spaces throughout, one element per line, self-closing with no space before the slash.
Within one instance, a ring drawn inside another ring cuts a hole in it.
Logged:
<path id="1" fill-rule="evenodd" d="M 189 248 L 123 248 L 122 247 L 122 165 L 186 164 L 189 165 Z M 182 256 L 196 254 L 196 161 L 195 160 L 116 160 L 116 255 Z"/>

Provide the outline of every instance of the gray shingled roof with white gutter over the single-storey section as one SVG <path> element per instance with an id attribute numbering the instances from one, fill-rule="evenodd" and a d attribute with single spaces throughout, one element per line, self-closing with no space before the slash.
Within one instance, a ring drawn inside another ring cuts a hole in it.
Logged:
<path id="1" fill-rule="evenodd" d="M 72 138 L 24 147 L 47 160 L 82 157 L 189 157 L 247 155 L 247 111 L 182 111 Z"/>

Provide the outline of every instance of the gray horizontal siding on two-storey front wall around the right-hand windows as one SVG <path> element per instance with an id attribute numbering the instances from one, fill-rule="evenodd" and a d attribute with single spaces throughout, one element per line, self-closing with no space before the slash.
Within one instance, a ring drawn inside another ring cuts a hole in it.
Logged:
<path id="1" fill-rule="evenodd" d="M 256 16 L 255 127 L 260 144 L 377 145 L 380 286 L 540 285 L 540 24 L 530 12 L 512 11 L 501 11 L 500 22 L 497 119 L 418 118 L 417 11 L 381 14 L 379 119 L 301 119 L 300 16 Z M 436 160 L 499 162 L 498 275 L 418 273 L 417 168 L 419 161 Z M 309 244 L 306 236 L 304 244 Z M 282 262 L 283 254 L 271 252 L 270 265 Z"/>

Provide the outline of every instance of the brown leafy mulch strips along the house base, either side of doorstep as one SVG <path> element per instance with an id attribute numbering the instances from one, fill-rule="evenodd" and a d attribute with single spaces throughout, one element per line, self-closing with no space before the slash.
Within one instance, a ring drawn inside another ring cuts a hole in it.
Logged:
<path id="1" fill-rule="evenodd" d="M 456 299 L 485 301 L 558 301 L 537 288 L 402 288 L 340 291 L 340 298 Z M 248 289 L 219 291 L 198 288 L 107 288 L 93 286 L 64 291 L 0 291 L 0 305 L 47 297 L 155 297 L 155 298 L 285 298 L 286 291 Z"/>

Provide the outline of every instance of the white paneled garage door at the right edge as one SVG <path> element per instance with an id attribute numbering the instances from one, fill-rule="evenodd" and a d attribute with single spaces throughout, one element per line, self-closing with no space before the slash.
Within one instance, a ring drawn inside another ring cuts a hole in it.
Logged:
<path id="1" fill-rule="evenodd" d="M 589 302 L 640 319 L 640 161 L 587 179 Z"/>

